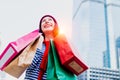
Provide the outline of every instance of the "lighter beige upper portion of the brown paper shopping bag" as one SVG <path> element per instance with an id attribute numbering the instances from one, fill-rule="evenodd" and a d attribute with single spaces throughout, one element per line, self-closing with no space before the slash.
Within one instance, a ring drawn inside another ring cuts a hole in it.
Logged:
<path id="1" fill-rule="evenodd" d="M 37 48 L 39 47 L 39 49 L 42 49 L 43 40 L 44 40 L 44 38 L 41 35 L 35 41 L 32 41 L 22 51 L 22 53 L 18 56 L 18 58 L 19 58 L 18 65 L 19 66 L 29 66 L 32 63 L 32 60 L 34 58 L 34 54 L 35 54 Z"/>

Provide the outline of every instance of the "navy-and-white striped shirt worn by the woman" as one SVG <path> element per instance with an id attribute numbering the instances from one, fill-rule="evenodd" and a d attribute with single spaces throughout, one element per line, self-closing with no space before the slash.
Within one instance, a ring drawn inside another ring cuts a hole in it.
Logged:
<path id="1" fill-rule="evenodd" d="M 32 64 L 27 68 L 24 80 L 37 80 L 40 72 L 40 64 L 42 61 L 43 53 L 45 51 L 45 45 L 43 44 L 42 50 L 37 48 L 35 57 Z M 47 73 L 45 72 L 42 80 L 46 80 Z"/>

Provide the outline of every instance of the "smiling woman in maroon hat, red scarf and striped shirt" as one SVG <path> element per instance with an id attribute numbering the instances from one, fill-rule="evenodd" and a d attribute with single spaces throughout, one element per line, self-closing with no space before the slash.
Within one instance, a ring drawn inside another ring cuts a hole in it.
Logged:
<path id="1" fill-rule="evenodd" d="M 55 18 L 51 15 L 43 16 L 40 19 L 39 32 L 42 33 L 44 37 L 42 49 L 37 48 L 32 64 L 26 70 L 25 80 L 46 80 L 47 78 L 46 66 L 50 40 L 54 39 L 59 33 L 58 24 Z M 76 80 L 76 76 L 74 74 L 70 73 L 69 76 L 71 76 L 69 78 L 70 80 Z M 66 80 L 68 80 L 67 76 Z"/>

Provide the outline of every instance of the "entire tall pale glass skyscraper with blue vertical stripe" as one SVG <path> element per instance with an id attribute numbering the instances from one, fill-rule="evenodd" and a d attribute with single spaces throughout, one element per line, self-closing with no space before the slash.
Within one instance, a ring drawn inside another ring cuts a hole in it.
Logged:
<path id="1" fill-rule="evenodd" d="M 119 0 L 74 0 L 73 41 L 92 67 L 117 69 L 116 39 L 120 36 Z"/>

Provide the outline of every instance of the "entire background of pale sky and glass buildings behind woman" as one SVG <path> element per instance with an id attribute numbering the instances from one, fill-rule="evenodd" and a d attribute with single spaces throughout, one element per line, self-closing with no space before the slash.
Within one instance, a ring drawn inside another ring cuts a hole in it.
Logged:
<path id="1" fill-rule="evenodd" d="M 120 0 L 4 0 L 0 10 L 1 52 L 51 14 L 89 66 L 78 80 L 120 80 Z M 0 80 L 8 78 L 18 80 L 0 72 Z"/>

